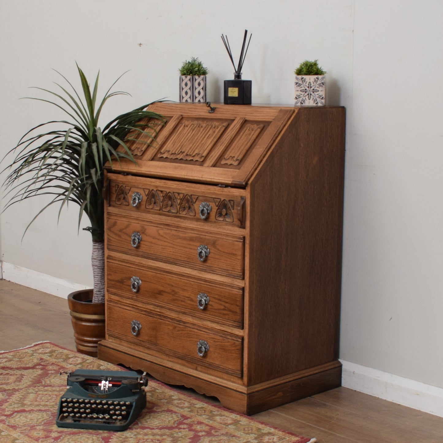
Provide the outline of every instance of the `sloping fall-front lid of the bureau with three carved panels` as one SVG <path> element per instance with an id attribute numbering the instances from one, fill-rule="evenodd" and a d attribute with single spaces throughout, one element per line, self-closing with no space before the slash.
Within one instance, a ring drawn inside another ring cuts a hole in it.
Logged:
<path id="1" fill-rule="evenodd" d="M 165 103 L 149 105 L 159 120 L 127 142 L 136 164 L 114 163 L 114 172 L 243 187 L 297 108 Z M 152 139 L 154 137 L 154 139 Z M 149 142 L 149 144 L 146 143 Z M 110 170 L 109 165 L 106 167 Z"/>

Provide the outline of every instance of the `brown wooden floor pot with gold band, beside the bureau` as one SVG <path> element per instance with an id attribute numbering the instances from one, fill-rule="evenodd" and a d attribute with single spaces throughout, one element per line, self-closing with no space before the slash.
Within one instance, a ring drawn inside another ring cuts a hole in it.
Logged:
<path id="1" fill-rule="evenodd" d="M 92 303 L 92 289 L 71 292 L 71 311 L 77 352 L 97 357 L 97 345 L 105 338 L 105 303 Z"/>

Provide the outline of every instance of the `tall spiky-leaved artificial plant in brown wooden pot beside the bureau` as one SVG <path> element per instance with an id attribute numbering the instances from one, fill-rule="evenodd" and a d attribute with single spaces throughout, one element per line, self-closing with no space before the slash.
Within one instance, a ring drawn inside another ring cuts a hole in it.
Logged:
<path id="1" fill-rule="evenodd" d="M 106 101 L 116 95 L 129 94 L 111 92 L 120 76 L 98 103 L 98 75 L 91 92 L 85 74 L 78 65 L 77 69 L 82 85 L 81 94 L 77 93 L 67 78 L 58 73 L 67 82 L 66 88 L 71 88 L 71 92 L 56 83 L 61 89 L 59 93 L 36 88 L 51 94 L 52 100 L 56 101 L 27 97 L 57 106 L 69 119 L 52 120 L 35 126 L 8 152 L 7 155 L 14 154 L 15 157 L 10 166 L 5 168 L 8 175 L 4 187 L 9 200 L 4 209 L 35 195 L 50 195 L 51 201 L 35 215 L 29 225 L 54 203 L 60 203 L 59 214 L 65 203 L 77 203 L 80 209 L 79 228 L 82 214 L 85 213 L 89 218 L 91 225 L 84 230 L 92 235 L 94 289 L 71 293 L 68 304 L 77 350 L 97 356 L 97 344 L 104 338 L 105 331 L 103 166 L 109 162 L 112 167 L 120 159 L 129 159 L 135 163 L 126 143 L 139 132 L 153 139 L 156 131 L 147 119 L 154 118 L 157 124 L 159 120 L 164 122 L 164 119 L 156 113 L 145 111 L 147 105 L 144 105 L 115 117 L 100 128 L 98 120 Z"/>

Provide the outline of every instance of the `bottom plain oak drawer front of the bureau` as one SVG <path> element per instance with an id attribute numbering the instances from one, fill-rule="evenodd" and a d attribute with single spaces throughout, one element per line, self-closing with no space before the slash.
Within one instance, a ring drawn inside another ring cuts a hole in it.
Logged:
<path id="1" fill-rule="evenodd" d="M 210 366 L 237 377 L 242 375 L 242 338 L 222 337 L 180 320 L 151 316 L 114 303 L 106 304 L 106 324 L 109 335 L 140 349 L 151 348 L 196 365 Z"/>

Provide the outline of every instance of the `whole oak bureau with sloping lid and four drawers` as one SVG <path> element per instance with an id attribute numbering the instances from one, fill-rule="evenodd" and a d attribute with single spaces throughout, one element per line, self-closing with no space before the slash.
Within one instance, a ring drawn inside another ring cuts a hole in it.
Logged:
<path id="1" fill-rule="evenodd" d="M 107 170 L 98 357 L 254 414 L 341 385 L 345 109 L 213 106 Z"/>

